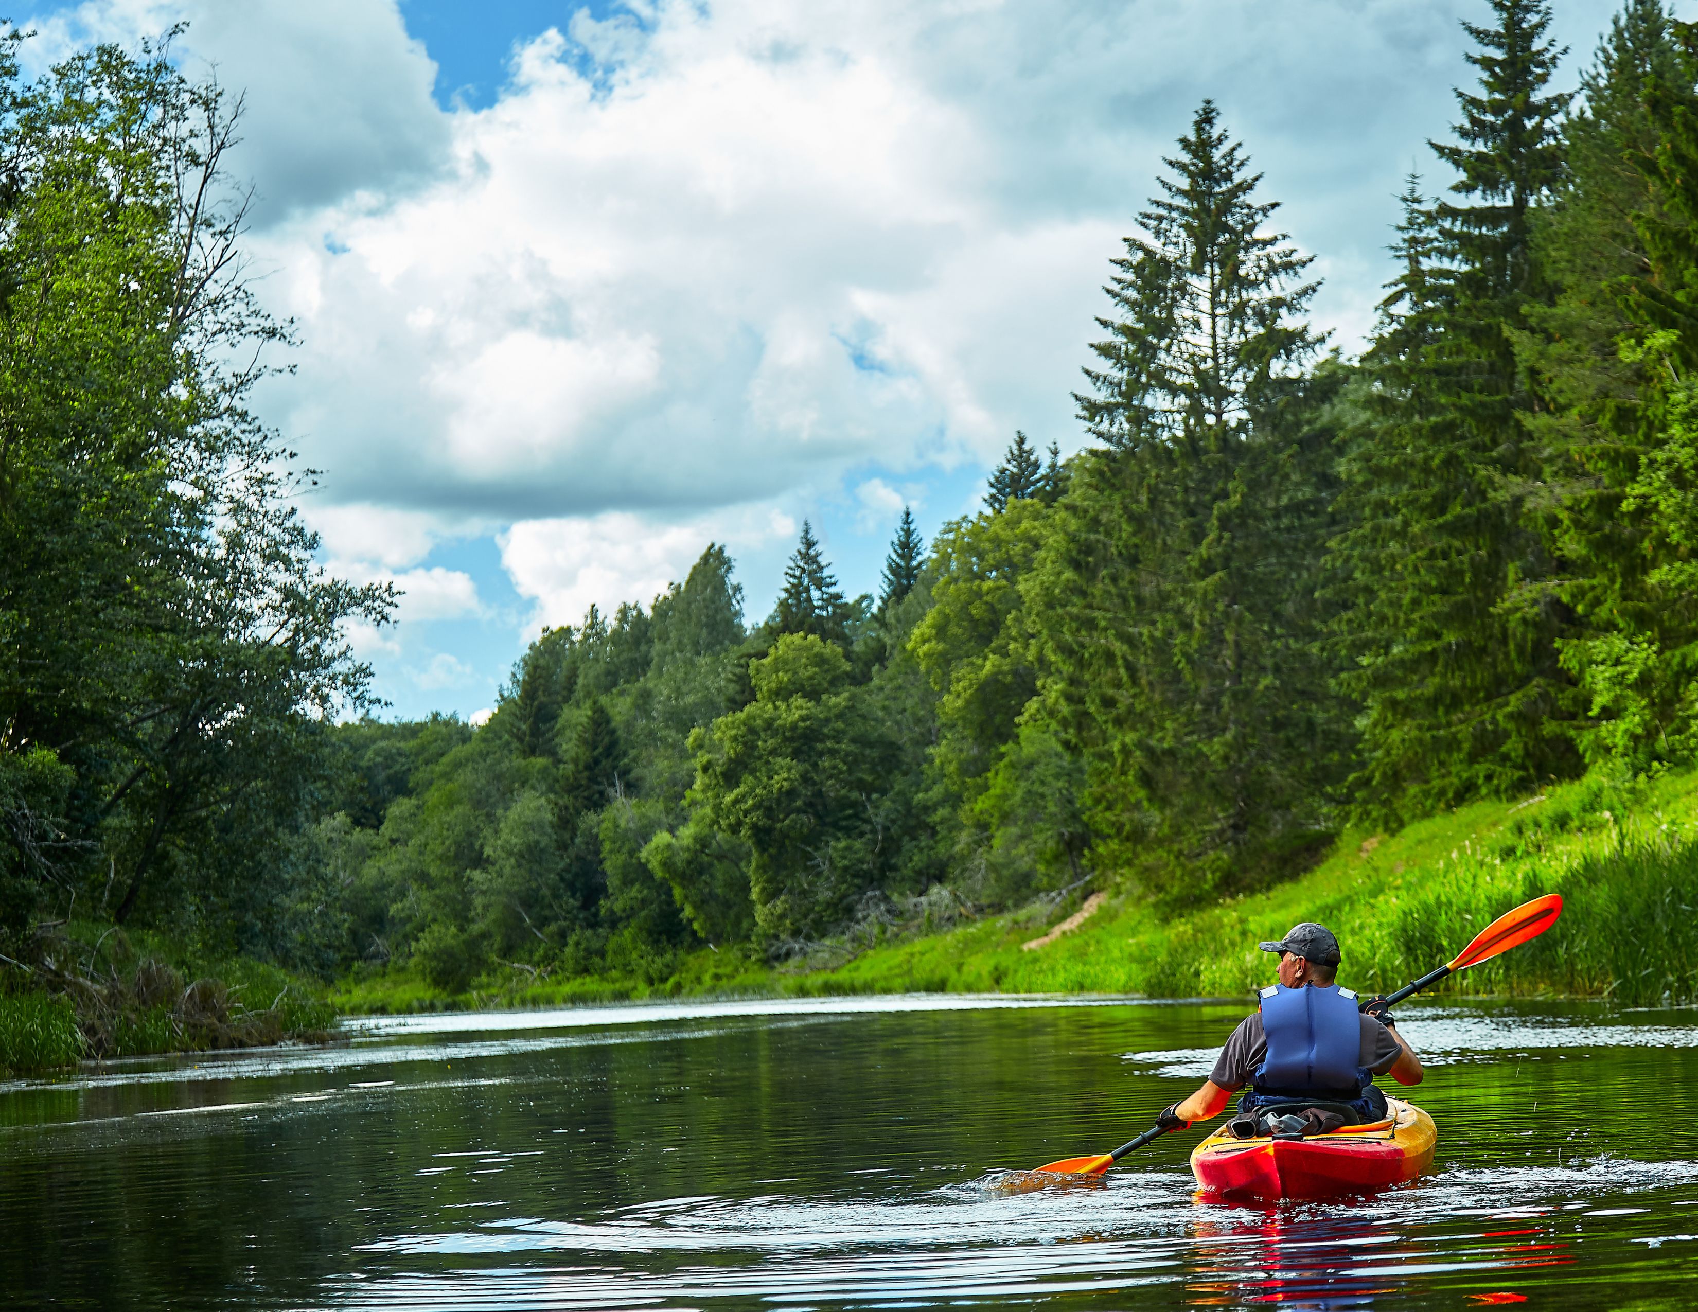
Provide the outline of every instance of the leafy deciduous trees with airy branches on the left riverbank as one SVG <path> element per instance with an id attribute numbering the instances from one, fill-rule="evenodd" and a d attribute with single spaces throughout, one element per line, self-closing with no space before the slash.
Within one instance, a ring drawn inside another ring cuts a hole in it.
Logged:
<path id="1" fill-rule="evenodd" d="M 0 42 L 0 934 L 73 906 L 287 950 L 292 844 L 365 699 L 304 477 L 246 409 L 236 117 L 165 51 Z"/>

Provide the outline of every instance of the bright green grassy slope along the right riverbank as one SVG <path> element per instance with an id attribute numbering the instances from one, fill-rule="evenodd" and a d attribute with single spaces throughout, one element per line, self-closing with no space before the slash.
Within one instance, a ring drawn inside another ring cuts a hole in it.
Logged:
<path id="1" fill-rule="evenodd" d="M 1036 950 L 1022 944 L 1078 910 L 1077 900 L 876 944 L 832 969 L 700 952 L 661 984 L 491 978 L 448 998 L 394 971 L 348 981 L 335 996 L 350 1012 L 717 991 L 1234 996 L 1268 979 L 1268 959 L 1255 944 L 1297 920 L 1338 932 L 1345 984 L 1386 991 L 1445 962 L 1489 920 L 1542 893 L 1564 894 L 1555 928 L 1447 988 L 1628 1005 L 1698 1000 L 1698 772 L 1584 779 L 1515 803 L 1476 803 L 1396 835 L 1347 833 L 1299 879 L 1190 915 L 1161 918 L 1148 903 L 1110 896 L 1080 928 Z"/>

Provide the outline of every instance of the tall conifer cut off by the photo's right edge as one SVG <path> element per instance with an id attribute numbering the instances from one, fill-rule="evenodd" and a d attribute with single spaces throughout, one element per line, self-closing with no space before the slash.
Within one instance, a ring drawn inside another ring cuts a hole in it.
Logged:
<path id="1" fill-rule="evenodd" d="M 1591 760 L 1698 749 L 1698 58 L 1657 0 L 1628 0 L 1566 124 L 1567 177 L 1538 233 L 1562 294 L 1520 334 L 1547 411 L 1547 518 L 1566 560 Z M 1690 42 L 1690 31 L 1684 32 Z"/>

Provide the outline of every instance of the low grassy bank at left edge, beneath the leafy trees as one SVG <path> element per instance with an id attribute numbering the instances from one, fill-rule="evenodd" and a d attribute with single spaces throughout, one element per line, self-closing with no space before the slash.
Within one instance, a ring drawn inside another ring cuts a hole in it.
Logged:
<path id="1" fill-rule="evenodd" d="M 34 947 L 0 971 L 0 1074 L 321 1039 L 336 1017 L 321 984 L 160 934 L 73 922 Z"/>

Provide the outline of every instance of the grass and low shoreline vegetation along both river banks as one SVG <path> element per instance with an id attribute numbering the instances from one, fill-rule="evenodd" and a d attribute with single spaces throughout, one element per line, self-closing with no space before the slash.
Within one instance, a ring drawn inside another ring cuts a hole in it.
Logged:
<path id="1" fill-rule="evenodd" d="M 78 937 L 95 927 L 80 925 L 61 940 L 61 959 L 75 964 L 63 967 L 58 996 L 0 995 L 0 1073 L 82 1057 L 321 1042 L 338 1015 L 932 991 L 1243 998 L 1267 983 L 1268 962 L 1255 944 L 1297 918 L 1340 934 L 1348 952 L 1341 983 L 1387 991 L 1542 893 L 1567 901 L 1557 927 L 1447 981 L 1445 991 L 1627 1006 L 1698 1001 L 1698 928 L 1671 913 L 1698 906 L 1698 772 L 1625 786 L 1583 779 L 1518 801 L 1474 803 L 1394 835 L 1350 832 L 1297 879 L 1189 915 L 1168 918 L 1143 900 L 1077 891 L 990 917 L 939 905 L 919 908 L 907 927 L 880 922 L 822 942 L 786 967 L 701 949 L 659 983 L 509 969 L 450 995 L 416 971 L 392 969 L 326 990 L 251 961 L 195 964 L 158 935 L 95 942 Z M 1078 918 L 1080 903 L 1095 910 L 1049 939 Z M 946 927 L 922 932 L 927 913 Z M 261 1000 L 268 1003 L 256 1006 Z"/>

